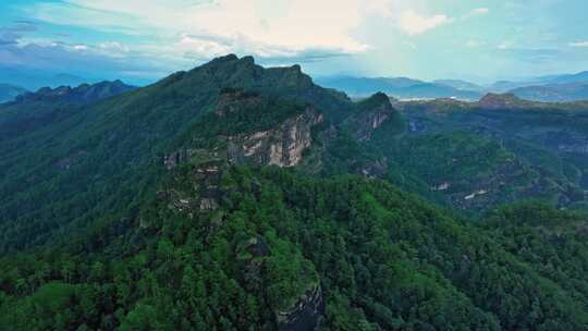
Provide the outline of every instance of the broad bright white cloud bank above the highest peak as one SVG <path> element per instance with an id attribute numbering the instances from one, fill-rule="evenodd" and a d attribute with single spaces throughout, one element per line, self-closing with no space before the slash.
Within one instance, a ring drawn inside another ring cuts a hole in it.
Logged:
<path id="1" fill-rule="evenodd" d="M 173 44 L 201 57 L 243 51 L 264 57 L 309 49 L 364 52 L 369 45 L 354 37 L 354 29 L 369 15 L 391 17 L 395 1 L 64 0 L 26 10 L 36 20 L 61 25 L 130 36 L 154 34 L 158 44 Z"/>

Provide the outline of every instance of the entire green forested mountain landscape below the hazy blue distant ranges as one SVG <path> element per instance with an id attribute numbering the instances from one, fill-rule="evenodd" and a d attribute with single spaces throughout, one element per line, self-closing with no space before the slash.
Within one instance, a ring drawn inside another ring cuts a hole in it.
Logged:
<path id="1" fill-rule="evenodd" d="M 236 56 L 21 101 L 68 115 L 0 139 L 0 329 L 588 329 L 585 214 L 524 201 L 581 185 L 549 149 L 581 103 L 354 102 Z"/>

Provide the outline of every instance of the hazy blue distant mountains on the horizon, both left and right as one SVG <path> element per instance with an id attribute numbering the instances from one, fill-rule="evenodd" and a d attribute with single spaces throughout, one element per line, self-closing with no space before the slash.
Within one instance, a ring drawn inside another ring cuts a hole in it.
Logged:
<path id="1" fill-rule="evenodd" d="M 57 88 L 98 82 L 95 78 L 68 73 L 56 74 L 2 66 L 0 66 L 0 76 L 9 77 L 0 82 L 0 102 L 10 101 L 25 90 L 34 91 L 42 87 Z M 477 101 L 488 93 L 510 93 L 531 101 L 567 102 L 588 100 L 588 71 L 577 74 L 539 76 L 523 81 L 499 81 L 490 85 L 453 78 L 427 82 L 402 76 L 362 77 L 335 75 L 316 77 L 314 81 L 322 86 L 344 91 L 353 98 L 365 98 L 382 91 L 401 100 L 452 98 Z"/>

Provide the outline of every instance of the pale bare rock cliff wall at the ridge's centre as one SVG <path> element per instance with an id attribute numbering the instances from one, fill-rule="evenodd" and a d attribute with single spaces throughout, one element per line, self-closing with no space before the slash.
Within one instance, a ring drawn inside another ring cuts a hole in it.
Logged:
<path id="1" fill-rule="evenodd" d="M 313 126 L 322 121 L 322 115 L 308 107 L 274 128 L 230 136 L 226 138 L 229 160 L 260 166 L 297 166 L 313 144 Z"/>

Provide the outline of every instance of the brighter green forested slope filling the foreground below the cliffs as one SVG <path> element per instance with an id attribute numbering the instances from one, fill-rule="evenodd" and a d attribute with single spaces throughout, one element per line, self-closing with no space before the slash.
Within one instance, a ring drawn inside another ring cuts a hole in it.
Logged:
<path id="1" fill-rule="evenodd" d="M 324 330 L 588 323 L 586 223 L 574 214 L 523 205 L 474 225 L 355 176 L 230 168 L 221 183 L 215 212 L 151 200 L 122 237 L 111 225 L 89 243 L 4 257 L 1 326 L 271 330 L 319 281 Z"/>

